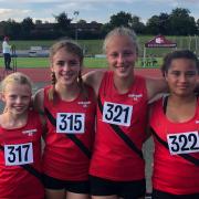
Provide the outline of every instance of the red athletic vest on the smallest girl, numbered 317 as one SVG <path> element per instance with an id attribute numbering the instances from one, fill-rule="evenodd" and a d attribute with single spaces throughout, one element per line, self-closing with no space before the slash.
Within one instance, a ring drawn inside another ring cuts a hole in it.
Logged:
<path id="1" fill-rule="evenodd" d="M 21 163 L 28 158 L 30 153 L 30 145 L 28 144 L 31 143 L 33 163 L 29 166 L 41 174 L 41 135 L 42 125 L 39 115 L 33 111 L 29 112 L 25 126 L 15 129 L 0 127 L 0 198 L 44 198 L 44 188 L 38 177 L 22 166 L 6 165 L 6 159 L 11 164 L 15 159 Z M 6 158 L 6 150 L 8 150 L 8 158 Z"/>

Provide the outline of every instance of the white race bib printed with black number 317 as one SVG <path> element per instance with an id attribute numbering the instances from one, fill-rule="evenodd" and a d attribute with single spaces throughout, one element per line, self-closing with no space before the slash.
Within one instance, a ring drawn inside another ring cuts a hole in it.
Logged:
<path id="1" fill-rule="evenodd" d="M 7 166 L 33 163 L 32 143 L 21 145 L 4 145 L 4 163 Z"/>

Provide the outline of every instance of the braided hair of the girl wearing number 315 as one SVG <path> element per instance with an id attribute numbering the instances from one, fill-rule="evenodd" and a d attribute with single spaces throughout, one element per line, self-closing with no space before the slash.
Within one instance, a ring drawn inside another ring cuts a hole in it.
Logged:
<path id="1" fill-rule="evenodd" d="M 77 55 L 80 59 L 80 64 L 81 66 L 83 65 L 83 59 L 84 59 L 84 54 L 83 54 L 83 50 L 82 48 L 74 41 L 72 40 L 60 40 L 56 43 L 54 43 L 51 49 L 50 49 L 50 63 L 51 65 L 53 65 L 53 56 L 55 55 L 55 53 L 60 50 L 60 49 L 64 49 L 65 52 Z M 83 91 L 83 94 L 85 96 L 87 96 L 86 91 L 85 91 L 85 86 L 83 84 L 82 81 L 82 73 L 80 71 L 78 73 L 78 84 Z M 49 91 L 49 100 L 54 102 L 54 97 L 55 97 L 55 83 L 56 83 L 56 77 L 54 72 L 51 73 L 51 83 L 52 83 L 52 88 L 50 88 Z"/>

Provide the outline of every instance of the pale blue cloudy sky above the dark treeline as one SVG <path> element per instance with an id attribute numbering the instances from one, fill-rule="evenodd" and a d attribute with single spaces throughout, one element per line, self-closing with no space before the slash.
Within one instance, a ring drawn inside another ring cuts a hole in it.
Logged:
<path id="1" fill-rule="evenodd" d="M 124 11 L 146 23 L 150 17 L 169 14 L 176 8 L 188 9 L 196 21 L 199 19 L 199 0 L 0 0 L 0 21 L 21 22 L 30 17 L 33 21 L 55 22 L 54 15 L 65 12 L 72 22 L 83 19 L 106 23 L 111 15 Z"/>

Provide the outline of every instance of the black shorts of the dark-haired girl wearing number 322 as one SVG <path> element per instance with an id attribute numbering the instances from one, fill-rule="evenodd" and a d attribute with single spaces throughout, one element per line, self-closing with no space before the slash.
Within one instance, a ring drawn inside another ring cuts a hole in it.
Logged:
<path id="1" fill-rule="evenodd" d="M 153 199 L 199 199 L 199 193 L 193 195 L 171 195 L 160 190 L 153 189 Z"/>

